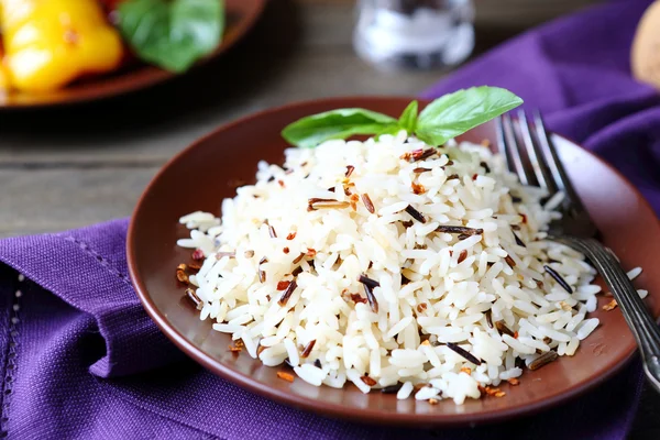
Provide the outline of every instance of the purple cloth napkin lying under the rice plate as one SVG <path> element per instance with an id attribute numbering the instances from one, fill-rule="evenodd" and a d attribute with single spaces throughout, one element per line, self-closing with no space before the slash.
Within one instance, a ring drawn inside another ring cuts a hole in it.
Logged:
<path id="1" fill-rule="evenodd" d="M 508 87 L 660 210 L 660 96 L 630 78 L 627 61 L 649 2 L 615 2 L 529 32 L 426 96 Z M 629 429 L 642 384 L 637 363 L 539 415 L 435 431 L 349 424 L 252 395 L 187 360 L 142 311 L 125 232 L 127 220 L 117 220 L 0 241 L 0 438 L 614 440 Z"/>

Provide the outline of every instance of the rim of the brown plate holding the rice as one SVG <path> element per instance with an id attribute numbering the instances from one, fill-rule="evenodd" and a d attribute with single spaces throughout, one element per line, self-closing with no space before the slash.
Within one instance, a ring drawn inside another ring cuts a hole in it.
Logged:
<path id="1" fill-rule="evenodd" d="M 154 304 L 151 298 L 143 280 L 138 276 L 138 258 L 135 254 L 135 223 L 139 213 L 144 206 L 145 198 L 148 197 L 148 194 L 152 190 L 157 182 L 162 178 L 162 176 L 166 173 L 166 170 L 185 158 L 193 150 L 195 150 L 199 144 L 206 142 L 208 139 L 217 136 L 219 133 L 230 130 L 235 125 L 243 124 L 250 122 L 254 119 L 262 118 L 264 116 L 268 116 L 270 113 L 276 113 L 283 110 L 305 107 L 312 103 L 328 103 L 332 105 L 333 102 L 342 102 L 346 99 L 353 101 L 360 100 L 392 100 L 397 99 L 402 100 L 402 102 L 409 102 L 410 100 L 418 100 L 420 105 L 427 105 L 432 101 L 432 99 L 419 98 L 419 97 L 406 97 L 406 96 L 370 96 L 370 95 L 360 95 L 360 96 L 339 96 L 339 97 L 329 97 L 329 98 L 320 98 L 320 99 L 307 99 L 300 101 L 289 102 L 283 106 L 267 108 L 257 112 L 253 112 L 243 117 L 240 117 L 233 121 L 230 121 L 226 124 L 222 124 L 211 132 L 205 134 L 204 136 L 197 139 L 184 150 L 174 155 L 169 161 L 167 161 L 162 168 L 154 175 L 154 177 L 150 180 L 144 191 L 140 196 L 135 209 L 132 212 L 129 230 L 127 234 L 127 263 L 129 266 L 129 274 L 131 277 L 131 283 L 142 302 L 143 308 L 146 310 L 150 318 L 152 318 L 158 329 L 165 333 L 165 336 L 174 342 L 174 344 L 184 351 L 184 353 L 191 358 L 197 363 L 201 364 L 205 369 L 209 370 L 211 373 L 221 376 L 223 380 L 227 380 L 243 389 L 249 391 L 250 393 L 254 393 L 256 395 L 270 398 L 277 403 L 293 406 L 299 409 L 304 409 L 307 411 L 314 411 L 320 415 L 331 416 L 343 420 L 352 420 L 360 422 L 378 422 L 392 426 L 415 426 L 415 427 L 430 427 L 430 426 L 444 426 L 444 427 L 454 427 L 454 426 L 466 426 L 470 424 L 490 424 L 496 421 L 505 421 L 512 418 L 518 418 L 524 416 L 529 416 L 532 414 L 537 414 L 544 409 L 550 409 L 559 405 L 562 402 L 572 400 L 573 398 L 587 393 L 588 391 L 595 388 L 596 386 L 603 384 L 616 373 L 622 371 L 624 366 L 626 366 L 630 360 L 634 358 L 636 353 L 636 345 L 634 344 L 627 353 L 625 353 L 619 361 L 609 370 L 601 375 L 594 375 L 591 378 L 584 381 L 579 386 L 574 386 L 569 391 L 557 393 L 543 400 L 539 400 L 524 407 L 505 407 L 501 409 L 490 409 L 484 410 L 479 414 L 452 414 L 452 415 L 442 415 L 442 414 L 433 414 L 433 413 L 424 413 L 424 414 L 410 414 L 410 413 L 388 413 L 386 418 L 384 417 L 384 413 L 380 410 L 372 410 L 370 408 L 360 408 L 354 413 L 346 413 L 345 407 L 339 404 L 320 402 L 319 399 L 305 397 L 301 395 L 293 394 L 293 393 L 282 393 L 277 389 L 270 388 L 264 386 L 263 383 L 253 380 L 252 377 L 231 369 L 230 366 L 224 365 L 223 363 L 215 360 L 208 353 L 204 352 L 201 349 L 195 346 L 184 334 L 182 334 L 174 327 L 169 326 L 166 317 L 158 311 L 158 308 Z M 657 215 L 654 213 L 653 208 L 649 204 L 649 201 L 641 195 L 639 189 L 634 186 L 628 178 L 626 178 L 618 169 L 616 169 L 613 165 L 602 160 L 594 153 L 584 148 L 580 143 L 574 142 L 570 138 L 552 133 L 554 136 L 559 139 L 563 139 L 564 141 L 572 144 L 572 146 L 579 147 L 580 150 L 586 152 L 593 160 L 600 162 L 604 166 L 608 168 L 608 170 L 615 174 L 618 178 L 624 180 L 627 184 L 627 187 L 632 190 L 634 195 L 637 196 L 640 200 L 640 204 L 644 205 L 645 209 L 648 209 L 653 213 L 656 220 L 658 220 Z"/>

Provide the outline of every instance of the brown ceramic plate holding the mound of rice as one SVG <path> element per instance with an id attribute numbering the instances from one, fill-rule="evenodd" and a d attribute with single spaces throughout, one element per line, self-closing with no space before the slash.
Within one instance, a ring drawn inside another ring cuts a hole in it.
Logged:
<path id="1" fill-rule="evenodd" d="M 602 384 L 635 352 L 620 311 L 602 310 L 609 298 L 601 298 L 592 315 L 602 326 L 574 356 L 526 372 L 519 386 L 503 387 L 506 397 L 469 399 L 463 406 L 451 400 L 432 406 L 381 393 L 364 395 L 353 385 L 344 389 L 315 387 L 299 378 L 290 384 L 277 378 L 280 367 L 263 366 L 246 353 L 230 353 L 230 337 L 212 331 L 209 321 L 200 321 L 184 298 L 175 268 L 190 262 L 190 251 L 176 246 L 177 239 L 188 237 L 178 224 L 180 216 L 195 210 L 219 215 L 221 200 L 234 196 L 232 185 L 254 182 L 258 160 L 282 163 L 287 145 L 279 131 L 287 123 L 342 107 L 363 107 L 396 117 L 409 101 L 336 98 L 268 110 L 220 128 L 173 158 L 148 185 L 129 230 L 130 273 L 147 314 L 184 352 L 213 373 L 284 404 L 360 421 L 431 426 L 499 420 L 557 405 Z M 492 124 L 462 138 L 495 141 Z M 647 267 L 635 284 L 650 292 L 648 305 L 654 316 L 660 315 L 660 276 L 652 271 L 660 250 L 660 224 L 653 211 L 614 168 L 561 136 L 556 140 L 604 242 L 616 251 L 625 267 Z"/>

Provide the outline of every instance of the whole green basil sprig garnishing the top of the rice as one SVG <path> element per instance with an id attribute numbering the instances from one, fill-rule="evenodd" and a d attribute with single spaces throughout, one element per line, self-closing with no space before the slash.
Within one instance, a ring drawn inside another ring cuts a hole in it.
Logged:
<path id="1" fill-rule="evenodd" d="M 282 136 L 293 145 L 310 148 L 331 139 L 355 134 L 381 135 L 406 130 L 420 141 L 439 146 L 522 103 L 499 87 L 473 87 L 446 95 L 418 113 L 413 101 L 397 119 L 365 109 L 338 109 L 312 114 L 288 124 Z"/>

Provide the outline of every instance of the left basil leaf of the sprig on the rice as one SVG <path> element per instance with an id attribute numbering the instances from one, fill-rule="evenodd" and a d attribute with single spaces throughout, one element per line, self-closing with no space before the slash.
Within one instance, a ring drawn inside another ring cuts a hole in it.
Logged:
<path id="1" fill-rule="evenodd" d="M 396 124 L 396 119 L 375 111 L 339 109 L 299 119 L 285 127 L 282 136 L 293 145 L 311 148 L 331 139 L 380 134 Z"/>

